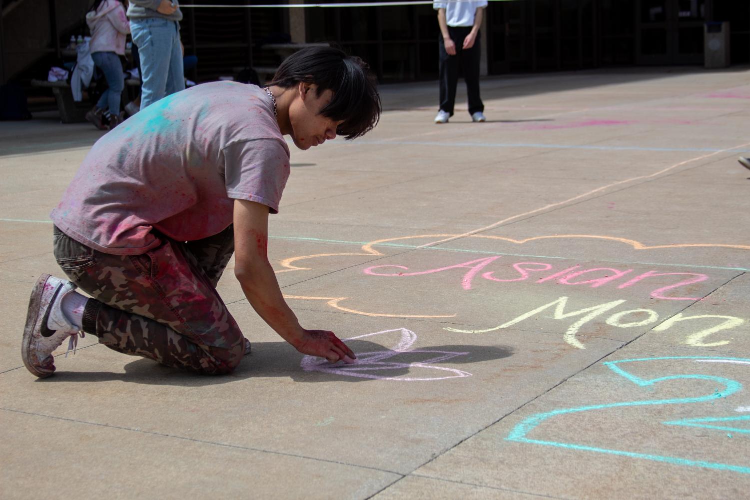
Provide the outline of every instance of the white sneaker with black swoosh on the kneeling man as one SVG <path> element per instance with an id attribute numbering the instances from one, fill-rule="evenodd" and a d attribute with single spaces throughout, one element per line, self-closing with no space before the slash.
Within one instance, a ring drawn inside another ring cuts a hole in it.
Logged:
<path id="1" fill-rule="evenodd" d="M 67 339 L 70 339 L 68 350 L 74 349 L 78 334 L 83 337 L 83 331 L 79 332 L 68 323 L 60 310 L 62 298 L 74 289 L 76 286 L 70 281 L 42 274 L 31 291 L 26 327 L 23 329 L 21 357 L 28 371 L 40 379 L 55 372 L 52 351 Z"/>

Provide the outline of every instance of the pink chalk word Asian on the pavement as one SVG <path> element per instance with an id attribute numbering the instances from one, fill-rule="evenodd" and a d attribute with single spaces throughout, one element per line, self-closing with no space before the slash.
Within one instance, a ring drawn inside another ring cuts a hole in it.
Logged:
<path id="1" fill-rule="evenodd" d="M 425 271 L 409 271 L 404 265 L 374 265 L 366 268 L 364 273 L 371 276 L 389 276 L 389 277 L 409 277 L 420 276 L 422 274 L 436 274 L 454 269 L 468 269 L 461 279 L 461 287 L 464 290 L 472 289 L 472 283 L 477 276 L 484 280 L 498 283 L 517 283 L 528 281 L 529 283 L 559 283 L 560 285 L 579 285 L 598 288 L 599 286 L 612 285 L 617 289 L 625 289 L 634 286 L 636 283 L 649 280 L 650 278 L 673 276 L 676 283 L 667 286 L 659 286 L 652 289 L 651 297 L 663 299 L 666 301 L 697 301 L 700 297 L 676 297 L 664 295 L 670 290 L 676 290 L 683 286 L 700 283 L 708 280 L 706 274 L 700 273 L 677 273 L 677 272 L 659 272 L 655 270 L 633 275 L 634 269 L 616 269 L 616 268 L 582 268 L 581 265 L 574 265 L 562 270 L 554 269 L 552 264 L 547 262 L 515 262 L 509 268 L 502 270 L 490 271 L 487 268 L 490 264 L 501 259 L 502 256 L 482 257 L 468 262 L 460 262 L 454 265 L 447 265 L 443 268 L 428 269 Z M 385 272 L 386 268 L 396 268 L 402 272 Z M 407 272 L 409 271 L 409 272 Z M 550 271 L 551 274 L 550 274 Z M 533 276 L 532 276 L 533 275 Z M 615 283 L 619 280 L 619 283 Z M 663 280 L 663 278 L 661 279 Z M 661 281 L 660 280 L 660 281 Z"/>

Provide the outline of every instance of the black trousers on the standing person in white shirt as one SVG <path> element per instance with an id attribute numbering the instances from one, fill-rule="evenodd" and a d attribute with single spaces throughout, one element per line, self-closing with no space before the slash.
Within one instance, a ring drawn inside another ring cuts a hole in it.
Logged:
<path id="1" fill-rule="evenodd" d="M 462 70 L 466 81 L 466 94 L 469 97 L 469 115 L 484 111 L 484 104 L 479 97 L 479 33 L 476 35 L 474 46 L 463 49 L 463 39 L 471 32 L 471 27 L 448 27 L 451 40 L 456 45 L 456 55 L 448 55 L 446 44 L 440 36 L 438 50 L 440 51 L 440 109 L 453 116 L 453 106 L 456 101 L 456 85 L 458 84 L 458 70 Z"/>

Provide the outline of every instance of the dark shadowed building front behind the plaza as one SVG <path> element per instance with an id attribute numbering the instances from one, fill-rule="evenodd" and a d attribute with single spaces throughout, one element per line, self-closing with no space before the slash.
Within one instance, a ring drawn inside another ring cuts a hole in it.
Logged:
<path id="1" fill-rule="evenodd" d="M 344 0 L 318 0 L 344 3 Z M 437 14 L 431 5 L 245 8 L 305 0 L 181 1 L 182 40 L 198 56 L 197 81 L 242 67 L 275 67 L 269 44 L 332 42 L 359 55 L 382 82 L 437 77 Z M 375 1 L 374 3 L 381 3 Z M 71 35 L 85 34 L 91 0 L 1 0 L 0 79 L 23 81 L 58 65 Z M 750 0 L 492 1 L 481 43 L 484 73 L 703 64 L 706 22 L 729 23 L 731 64 L 750 62 Z"/>

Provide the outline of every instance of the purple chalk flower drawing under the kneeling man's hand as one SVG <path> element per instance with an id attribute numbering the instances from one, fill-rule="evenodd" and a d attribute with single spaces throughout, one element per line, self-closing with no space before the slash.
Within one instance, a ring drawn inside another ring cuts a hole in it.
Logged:
<path id="1" fill-rule="evenodd" d="M 358 340 L 368 337 L 393 338 L 400 337 L 398 342 L 391 349 L 373 352 L 357 352 L 357 360 L 353 364 L 330 364 L 328 361 L 320 361 L 320 358 L 314 356 L 305 356 L 302 358 L 300 366 L 303 370 L 312 372 L 332 373 L 335 375 L 344 375 L 350 377 L 359 377 L 362 379 L 379 379 L 379 380 L 399 380 L 399 381 L 428 381 L 457 379 L 460 377 L 471 376 L 471 373 L 457 370 L 455 368 L 440 367 L 435 364 L 446 361 L 457 356 L 469 354 L 468 352 L 449 352 L 436 351 L 433 349 L 410 349 L 417 340 L 416 334 L 406 328 L 395 328 L 392 330 L 377 331 L 372 334 L 358 335 L 343 340 Z M 410 358 L 424 358 L 424 361 L 409 361 Z M 398 357 L 398 360 L 392 358 Z M 386 361 L 386 360 L 392 361 Z M 391 373 L 389 373 L 389 370 Z M 393 370 L 408 370 L 406 376 L 393 375 Z M 431 370 L 432 373 L 426 376 L 410 376 L 413 371 Z M 434 370 L 437 370 L 435 372 Z"/>

